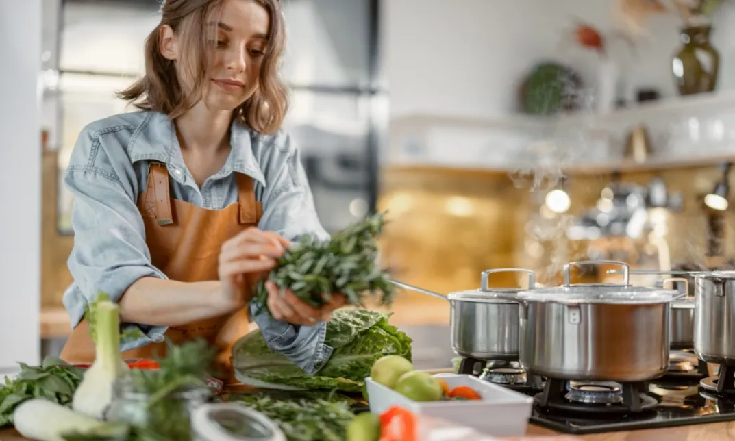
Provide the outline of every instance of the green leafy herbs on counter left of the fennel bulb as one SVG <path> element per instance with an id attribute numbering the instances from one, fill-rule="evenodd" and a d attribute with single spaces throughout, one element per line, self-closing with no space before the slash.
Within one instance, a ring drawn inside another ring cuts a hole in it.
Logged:
<path id="1" fill-rule="evenodd" d="M 82 368 L 52 356 L 44 358 L 40 366 L 18 364 L 21 366 L 18 376 L 5 379 L 0 387 L 0 427 L 12 424 L 12 412 L 30 398 L 46 398 L 71 407 L 74 390 L 84 375 Z"/>

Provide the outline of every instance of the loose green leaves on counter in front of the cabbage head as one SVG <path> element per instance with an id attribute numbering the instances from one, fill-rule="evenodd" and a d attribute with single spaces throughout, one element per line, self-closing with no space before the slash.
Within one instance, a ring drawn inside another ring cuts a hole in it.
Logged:
<path id="1" fill-rule="evenodd" d="M 267 394 L 238 397 L 276 422 L 288 441 L 343 441 L 355 415 L 347 399 L 274 399 Z"/>

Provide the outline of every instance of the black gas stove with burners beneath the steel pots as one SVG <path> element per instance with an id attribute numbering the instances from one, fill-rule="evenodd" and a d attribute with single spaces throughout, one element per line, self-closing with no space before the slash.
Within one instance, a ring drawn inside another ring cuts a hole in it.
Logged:
<path id="1" fill-rule="evenodd" d="M 480 370 L 467 362 L 473 370 L 465 373 L 533 397 L 531 423 L 567 434 L 735 421 L 735 366 L 713 377 L 691 351 L 671 355 L 660 379 L 633 383 L 541 379 L 517 362 L 478 362 Z M 527 387 L 517 387 L 524 379 Z"/>

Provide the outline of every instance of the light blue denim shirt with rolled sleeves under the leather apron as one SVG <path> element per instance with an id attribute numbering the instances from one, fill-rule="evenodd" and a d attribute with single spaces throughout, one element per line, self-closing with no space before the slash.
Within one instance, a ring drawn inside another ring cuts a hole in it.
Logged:
<path id="1" fill-rule="evenodd" d="M 131 112 L 88 124 L 73 148 L 65 186 L 73 193 L 74 246 L 68 260 L 73 284 L 63 302 L 76 327 L 86 304 L 99 291 L 114 301 L 142 277 L 166 279 L 151 265 L 143 218 L 137 209 L 139 193 L 146 190 L 148 164 L 168 168 L 171 197 L 206 209 L 223 209 L 237 201 L 235 172 L 251 176 L 262 202 L 259 229 L 290 240 L 302 234 L 329 238 L 317 217 L 300 154 L 293 139 L 282 131 L 261 135 L 233 123 L 232 152 L 225 165 L 209 177 L 201 190 L 184 164 L 173 123 L 159 112 Z M 294 326 L 273 319 L 267 309 L 251 313 L 268 345 L 307 373 L 315 373 L 329 359 L 324 344 L 325 323 Z M 165 326 L 137 326 L 144 337 L 123 340 L 121 351 L 160 342 Z"/>

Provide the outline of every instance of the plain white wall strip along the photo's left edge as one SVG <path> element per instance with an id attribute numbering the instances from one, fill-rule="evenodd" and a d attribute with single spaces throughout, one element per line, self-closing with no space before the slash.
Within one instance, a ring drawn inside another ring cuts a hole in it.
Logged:
<path id="1" fill-rule="evenodd" d="M 0 0 L 0 373 L 40 358 L 41 0 Z"/>

